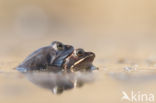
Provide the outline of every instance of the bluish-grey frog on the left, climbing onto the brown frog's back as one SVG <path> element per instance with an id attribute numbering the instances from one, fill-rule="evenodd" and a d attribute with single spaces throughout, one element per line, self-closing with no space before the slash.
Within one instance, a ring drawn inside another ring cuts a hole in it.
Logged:
<path id="1" fill-rule="evenodd" d="M 64 60 L 73 53 L 74 47 L 53 41 L 50 45 L 41 47 L 30 54 L 16 69 L 20 72 L 34 70 L 51 70 L 59 72 Z"/>

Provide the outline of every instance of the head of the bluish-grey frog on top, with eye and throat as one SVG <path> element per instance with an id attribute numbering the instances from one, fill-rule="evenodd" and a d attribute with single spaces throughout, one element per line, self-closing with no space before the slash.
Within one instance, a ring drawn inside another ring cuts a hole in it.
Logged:
<path id="1" fill-rule="evenodd" d="M 57 67 L 61 67 L 64 63 L 64 60 L 72 54 L 74 51 L 73 46 L 71 45 L 65 45 L 59 41 L 54 41 L 51 43 L 52 48 L 56 52 L 56 57 L 53 61 L 53 65 Z"/>

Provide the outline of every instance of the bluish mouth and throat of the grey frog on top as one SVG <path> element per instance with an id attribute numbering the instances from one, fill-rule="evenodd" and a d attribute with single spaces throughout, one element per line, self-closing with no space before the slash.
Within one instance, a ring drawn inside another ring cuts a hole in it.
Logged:
<path id="1" fill-rule="evenodd" d="M 66 50 L 54 60 L 53 65 L 57 67 L 62 67 L 66 58 L 68 58 L 74 51 L 72 46 L 66 45 Z"/>

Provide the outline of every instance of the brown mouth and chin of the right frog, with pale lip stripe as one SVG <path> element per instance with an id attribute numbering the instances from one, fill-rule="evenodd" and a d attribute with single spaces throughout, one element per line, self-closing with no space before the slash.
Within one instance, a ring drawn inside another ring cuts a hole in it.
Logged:
<path id="1" fill-rule="evenodd" d="M 76 61 L 74 64 L 70 66 L 71 71 L 81 71 L 81 70 L 90 70 L 92 68 L 92 63 L 95 58 L 95 54 L 92 52 L 87 52 L 87 55 L 78 61 Z"/>

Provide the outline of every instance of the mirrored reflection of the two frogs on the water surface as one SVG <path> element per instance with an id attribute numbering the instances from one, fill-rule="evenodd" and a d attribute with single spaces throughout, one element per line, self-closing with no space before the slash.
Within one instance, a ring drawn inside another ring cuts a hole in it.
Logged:
<path id="1" fill-rule="evenodd" d="M 61 94 L 64 90 L 82 87 L 85 83 L 95 80 L 93 72 L 47 72 L 29 71 L 23 73 L 24 76 L 37 86 L 51 90 L 54 94 Z"/>

